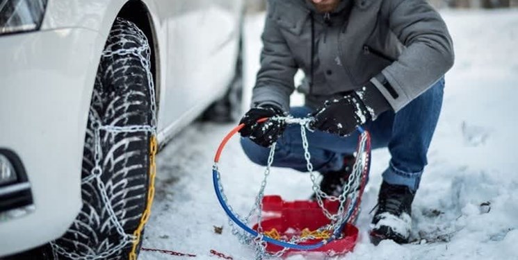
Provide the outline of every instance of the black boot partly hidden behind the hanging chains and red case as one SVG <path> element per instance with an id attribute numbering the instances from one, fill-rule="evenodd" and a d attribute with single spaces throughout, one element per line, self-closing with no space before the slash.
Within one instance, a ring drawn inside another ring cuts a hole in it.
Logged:
<path id="1" fill-rule="evenodd" d="M 338 197 L 343 191 L 343 184 L 348 182 L 349 175 L 353 172 L 356 158 L 353 155 L 343 157 L 343 166 L 339 171 L 328 171 L 321 173 L 323 178 L 320 182 L 321 191 L 329 196 Z M 316 194 L 311 195 L 311 200 L 316 200 Z"/>

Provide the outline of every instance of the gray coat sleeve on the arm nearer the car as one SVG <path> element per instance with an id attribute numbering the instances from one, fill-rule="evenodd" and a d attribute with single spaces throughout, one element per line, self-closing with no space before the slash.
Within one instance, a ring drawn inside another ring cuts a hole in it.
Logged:
<path id="1" fill-rule="evenodd" d="M 293 77 L 298 67 L 275 21 L 275 1 L 272 0 L 268 1 L 261 40 L 261 69 L 252 92 L 252 107 L 271 104 L 289 112 L 289 96 L 295 90 Z"/>

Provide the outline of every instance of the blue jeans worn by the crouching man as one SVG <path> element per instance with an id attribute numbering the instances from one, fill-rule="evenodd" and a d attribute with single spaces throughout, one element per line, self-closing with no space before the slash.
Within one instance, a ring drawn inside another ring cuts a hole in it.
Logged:
<path id="1" fill-rule="evenodd" d="M 385 182 L 406 185 L 412 191 L 419 188 L 427 164 L 428 147 L 441 112 L 443 91 L 444 78 L 399 112 L 384 112 L 375 121 L 364 125 L 371 132 L 373 149 L 389 148 L 390 164 L 382 174 Z M 292 107 L 290 112 L 294 117 L 305 117 L 313 110 L 309 107 Z M 315 171 L 339 171 L 343 167 L 343 157 L 355 152 L 358 135 L 354 132 L 348 137 L 339 137 L 318 130 L 307 131 Z M 252 162 L 266 165 L 269 148 L 261 147 L 248 138 L 241 139 L 241 146 Z M 307 171 L 300 125 L 288 125 L 277 140 L 273 166 Z"/>

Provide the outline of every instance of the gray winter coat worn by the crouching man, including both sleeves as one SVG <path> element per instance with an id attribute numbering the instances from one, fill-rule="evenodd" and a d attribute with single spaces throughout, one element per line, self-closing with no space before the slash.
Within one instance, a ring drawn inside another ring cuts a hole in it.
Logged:
<path id="1" fill-rule="evenodd" d="M 310 107 L 371 80 L 397 112 L 453 66 L 446 24 L 426 0 L 342 0 L 327 15 L 311 0 L 268 0 L 262 40 L 252 105 L 285 111 L 299 68 Z"/>

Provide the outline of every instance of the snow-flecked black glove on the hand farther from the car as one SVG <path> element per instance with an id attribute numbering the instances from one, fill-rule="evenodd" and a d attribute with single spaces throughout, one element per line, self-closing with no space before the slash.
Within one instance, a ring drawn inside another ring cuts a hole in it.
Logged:
<path id="1" fill-rule="evenodd" d="M 344 137 L 390 108 L 383 94 L 369 82 L 343 98 L 325 101 L 324 107 L 313 114 L 311 128 Z"/>

